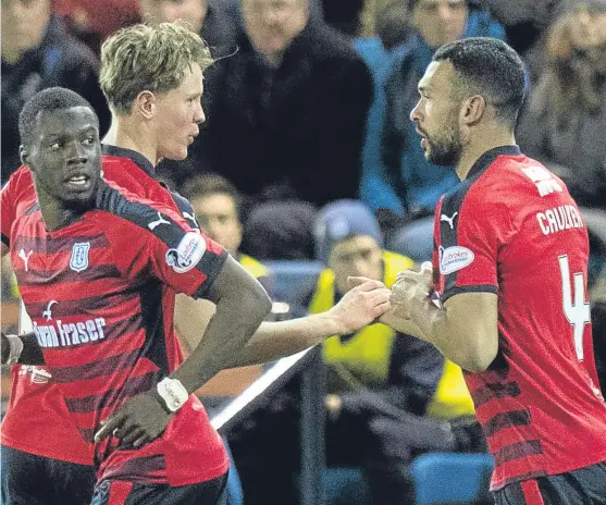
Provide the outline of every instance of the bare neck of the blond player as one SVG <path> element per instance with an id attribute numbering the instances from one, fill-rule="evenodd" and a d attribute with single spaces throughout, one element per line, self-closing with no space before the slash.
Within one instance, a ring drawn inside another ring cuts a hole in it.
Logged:
<path id="1" fill-rule="evenodd" d="M 103 137 L 108 146 L 131 149 L 145 156 L 154 167 L 160 161 L 156 136 L 149 131 L 145 122 L 136 118 L 115 114 L 112 112 L 112 122 L 109 132 Z"/>

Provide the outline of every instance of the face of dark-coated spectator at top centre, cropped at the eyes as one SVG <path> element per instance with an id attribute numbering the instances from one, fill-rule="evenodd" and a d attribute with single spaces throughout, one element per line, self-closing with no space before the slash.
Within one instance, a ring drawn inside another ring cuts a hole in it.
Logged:
<path id="1" fill-rule="evenodd" d="M 309 20 L 307 0 L 242 0 L 242 12 L 250 41 L 274 63 Z"/>

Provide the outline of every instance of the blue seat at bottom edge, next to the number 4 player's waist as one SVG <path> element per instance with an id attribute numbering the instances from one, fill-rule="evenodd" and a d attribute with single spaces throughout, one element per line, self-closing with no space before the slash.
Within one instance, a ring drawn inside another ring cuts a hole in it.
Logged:
<path id="1" fill-rule="evenodd" d="M 416 505 L 473 503 L 488 497 L 490 454 L 429 453 L 412 461 Z"/>

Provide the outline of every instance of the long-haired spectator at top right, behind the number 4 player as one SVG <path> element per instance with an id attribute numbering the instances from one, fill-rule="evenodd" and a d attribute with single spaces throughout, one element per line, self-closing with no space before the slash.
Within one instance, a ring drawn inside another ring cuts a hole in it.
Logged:
<path id="1" fill-rule="evenodd" d="M 549 28 L 546 69 L 517 130 L 580 206 L 606 210 L 606 4 L 580 2 Z M 541 125 L 541 127 L 536 127 Z"/>

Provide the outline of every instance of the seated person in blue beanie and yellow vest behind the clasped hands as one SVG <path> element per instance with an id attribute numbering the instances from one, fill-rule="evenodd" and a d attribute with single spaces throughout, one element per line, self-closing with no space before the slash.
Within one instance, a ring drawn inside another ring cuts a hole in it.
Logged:
<path id="1" fill-rule="evenodd" d="M 359 201 L 336 201 L 320 211 L 318 259 L 322 271 L 310 312 L 329 310 L 349 291 L 348 276 L 387 287 L 412 260 L 382 249 L 379 223 Z M 329 368 L 329 466 L 364 467 L 373 503 L 412 503 L 408 469 L 428 451 L 485 447 L 459 367 L 432 345 L 371 324 L 324 341 Z M 452 429 L 445 419 L 457 419 Z"/>

